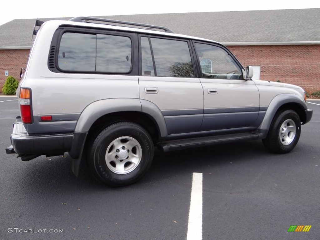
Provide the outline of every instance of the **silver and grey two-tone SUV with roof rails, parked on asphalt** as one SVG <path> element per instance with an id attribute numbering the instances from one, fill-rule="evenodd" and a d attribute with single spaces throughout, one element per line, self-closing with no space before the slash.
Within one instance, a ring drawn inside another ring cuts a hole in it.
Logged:
<path id="1" fill-rule="evenodd" d="M 288 153 L 311 119 L 302 88 L 252 79 L 217 42 L 89 17 L 36 25 L 6 148 L 22 161 L 69 152 L 76 175 L 86 159 L 98 180 L 124 186 L 155 147 L 262 139 Z"/>

